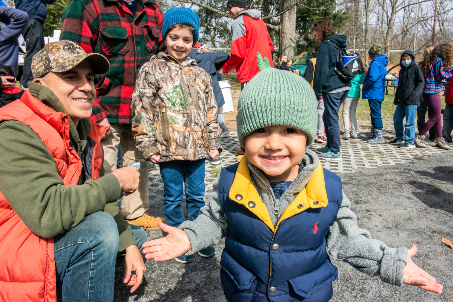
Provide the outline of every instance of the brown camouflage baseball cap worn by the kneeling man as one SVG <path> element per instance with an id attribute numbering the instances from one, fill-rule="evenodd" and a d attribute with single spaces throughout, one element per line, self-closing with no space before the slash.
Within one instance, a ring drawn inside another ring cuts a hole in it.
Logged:
<path id="1" fill-rule="evenodd" d="M 62 40 L 47 43 L 31 61 L 33 78 L 42 77 L 48 72 L 66 72 L 85 59 L 91 64 L 94 74 L 103 74 L 110 69 L 106 57 L 99 53 L 87 54 L 74 42 Z"/>

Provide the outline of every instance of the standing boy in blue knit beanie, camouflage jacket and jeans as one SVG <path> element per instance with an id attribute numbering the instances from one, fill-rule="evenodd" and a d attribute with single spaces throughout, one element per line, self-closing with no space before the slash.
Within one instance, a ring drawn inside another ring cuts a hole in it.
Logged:
<path id="1" fill-rule="evenodd" d="M 185 220 L 184 192 L 187 220 L 198 217 L 204 206 L 205 159 L 222 151 L 211 76 L 188 57 L 198 41 L 199 26 L 198 15 L 186 7 L 165 13 L 162 38 L 168 54 L 158 53 L 140 68 L 132 94 L 135 143 L 146 160 L 159 164 L 165 221 L 174 227 Z M 206 247 L 198 254 L 210 257 L 215 249 Z M 193 259 L 181 255 L 175 260 Z"/>

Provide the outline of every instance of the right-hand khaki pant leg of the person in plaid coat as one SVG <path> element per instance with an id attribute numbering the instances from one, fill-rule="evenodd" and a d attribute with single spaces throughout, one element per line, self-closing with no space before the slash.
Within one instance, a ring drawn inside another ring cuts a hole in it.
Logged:
<path id="1" fill-rule="evenodd" d="M 132 131 L 131 126 L 127 124 L 121 126 L 121 167 L 127 166 L 130 162 L 140 162 L 139 187 L 135 192 L 124 196 L 121 201 L 121 215 L 125 219 L 134 219 L 142 216 L 149 209 L 148 162 L 135 147 L 135 132 Z"/>

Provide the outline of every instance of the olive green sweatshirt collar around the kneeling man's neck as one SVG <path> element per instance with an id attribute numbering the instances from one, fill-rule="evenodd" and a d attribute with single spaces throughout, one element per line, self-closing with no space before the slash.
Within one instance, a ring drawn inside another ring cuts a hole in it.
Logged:
<path id="1" fill-rule="evenodd" d="M 32 96 L 43 102 L 51 109 L 67 115 L 67 111 L 64 109 L 60 100 L 58 100 L 53 91 L 51 91 L 46 86 L 35 82 L 29 82 L 29 91 Z M 88 132 L 90 131 L 90 129 L 91 125 L 88 119 L 79 120 L 79 124 L 76 128 L 76 126 L 72 122 L 72 119 L 69 118 L 70 136 L 72 142 L 74 143 L 74 146 L 76 147 L 77 153 L 80 153 L 85 149 L 85 146 L 87 145 Z"/>

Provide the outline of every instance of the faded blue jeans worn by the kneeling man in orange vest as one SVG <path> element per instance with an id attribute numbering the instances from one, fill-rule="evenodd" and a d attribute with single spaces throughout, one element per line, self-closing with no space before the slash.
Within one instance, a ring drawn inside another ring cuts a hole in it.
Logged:
<path id="1" fill-rule="evenodd" d="M 133 234 L 141 249 L 145 231 L 133 228 Z M 57 297 L 63 301 L 113 301 L 120 236 L 112 216 L 105 212 L 88 215 L 53 242 Z M 124 262 L 124 257 L 118 258 Z"/>

